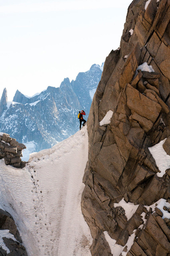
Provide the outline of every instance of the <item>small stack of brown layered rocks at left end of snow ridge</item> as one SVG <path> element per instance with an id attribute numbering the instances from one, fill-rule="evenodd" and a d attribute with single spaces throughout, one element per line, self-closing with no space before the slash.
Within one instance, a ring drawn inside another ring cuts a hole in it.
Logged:
<path id="1" fill-rule="evenodd" d="M 0 159 L 5 159 L 6 165 L 11 165 L 16 168 L 23 168 L 26 162 L 21 160 L 22 149 L 26 146 L 18 143 L 16 139 L 10 137 L 7 133 L 0 134 Z"/>

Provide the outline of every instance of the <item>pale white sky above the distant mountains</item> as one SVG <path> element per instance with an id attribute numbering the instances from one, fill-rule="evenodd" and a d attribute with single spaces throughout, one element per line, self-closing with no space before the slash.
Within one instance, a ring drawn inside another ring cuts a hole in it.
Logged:
<path id="1" fill-rule="evenodd" d="M 120 44 L 131 0 L 0 0 L 0 97 L 32 96 L 101 65 Z"/>

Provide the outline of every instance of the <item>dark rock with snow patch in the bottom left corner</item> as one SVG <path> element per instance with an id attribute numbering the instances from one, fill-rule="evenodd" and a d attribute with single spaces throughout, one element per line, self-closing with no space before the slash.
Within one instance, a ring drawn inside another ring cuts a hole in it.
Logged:
<path id="1" fill-rule="evenodd" d="M 0 209 L 0 255 L 27 256 L 12 216 Z"/>

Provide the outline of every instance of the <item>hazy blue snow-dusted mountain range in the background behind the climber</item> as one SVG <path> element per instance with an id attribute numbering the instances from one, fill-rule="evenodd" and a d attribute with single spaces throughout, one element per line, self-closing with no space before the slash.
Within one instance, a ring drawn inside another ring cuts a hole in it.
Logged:
<path id="1" fill-rule="evenodd" d="M 70 83 L 65 78 L 60 87 L 48 86 L 33 97 L 17 90 L 12 102 L 7 102 L 4 89 L 0 130 L 27 146 L 23 160 L 28 160 L 29 153 L 50 148 L 79 130 L 78 110 L 85 110 L 87 119 L 102 69 L 103 64 L 94 64 L 75 81 Z"/>

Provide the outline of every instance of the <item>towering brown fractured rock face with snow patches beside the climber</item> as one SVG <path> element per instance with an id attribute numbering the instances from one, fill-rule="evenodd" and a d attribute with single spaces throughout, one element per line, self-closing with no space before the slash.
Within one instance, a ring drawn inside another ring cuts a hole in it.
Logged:
<path id="1" fill-rule="evenodd" d="M 170 152 L 169 20 L 169 0 L 134 0 L 120 49 L 104 64 L 87 122 L 82 194 L 92 256 L 170 253 L 170 170 L 163 175 L 149 150 L 168 138 Z M 100 126 L 109 110 L 111 120 Z"/>

